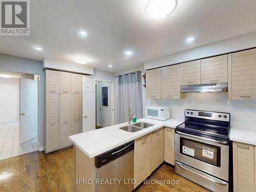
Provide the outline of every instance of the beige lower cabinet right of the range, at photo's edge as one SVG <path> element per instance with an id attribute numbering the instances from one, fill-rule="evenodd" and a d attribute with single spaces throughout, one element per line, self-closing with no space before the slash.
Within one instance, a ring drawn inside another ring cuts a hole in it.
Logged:
<path id="1" fill-rule="evenodd" d="M 233 142 L 233 190 L 255 191 L 256 146 Z"/>

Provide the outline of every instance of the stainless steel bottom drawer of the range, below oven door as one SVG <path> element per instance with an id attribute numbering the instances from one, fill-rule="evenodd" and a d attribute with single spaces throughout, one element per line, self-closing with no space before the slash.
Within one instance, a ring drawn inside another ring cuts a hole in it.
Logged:
<path id="1" fill-rule="evenodd" d="M 212 177 L 208 174 L 200 172 L 193 167 L 187 166 L 178 161 L 175 162 L 175 172 L 195 183 L 202 185 L 203 187 L 212 191 L 228 191 L 228 183 L 218 178 Z"/>

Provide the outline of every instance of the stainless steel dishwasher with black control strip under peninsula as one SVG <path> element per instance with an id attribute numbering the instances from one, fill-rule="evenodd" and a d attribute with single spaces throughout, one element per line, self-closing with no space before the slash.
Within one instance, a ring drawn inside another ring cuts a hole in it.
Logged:
<path id="1" fill-rule="evenodd" d="M 134 141 L 95 158 L 97 192 L 130 192 L 134 178 Z"/>

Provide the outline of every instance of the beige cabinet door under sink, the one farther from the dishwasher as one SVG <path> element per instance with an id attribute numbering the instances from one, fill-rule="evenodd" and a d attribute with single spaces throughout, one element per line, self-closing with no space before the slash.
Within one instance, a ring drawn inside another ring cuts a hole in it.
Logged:
<path id="1" fill-rule="evenodd" d="M 151 173 L 163 162 L 164 156 L 164 137 L 163 129 L 151 133 L 150 136 L 151 154 Z"/>

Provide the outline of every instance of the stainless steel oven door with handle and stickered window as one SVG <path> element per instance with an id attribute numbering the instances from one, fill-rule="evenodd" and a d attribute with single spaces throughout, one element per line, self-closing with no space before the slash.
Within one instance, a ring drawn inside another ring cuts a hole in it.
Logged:
<path id="1" fill-rule="evenodd" d="M 228 181 L 229 146 L 181 134 L 175 134 L 175 160 Z"/>

